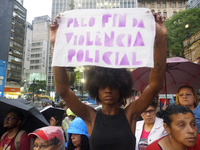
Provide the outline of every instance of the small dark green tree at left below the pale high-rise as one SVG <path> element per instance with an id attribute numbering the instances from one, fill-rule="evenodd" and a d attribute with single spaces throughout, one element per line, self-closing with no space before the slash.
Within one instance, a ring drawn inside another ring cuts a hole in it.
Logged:
<path id="1" fill-rule="evenodd" d="M 36 93 L 36 94 L 40 94 L 41 91 L 46 91 L 46 81 L 45 80 L 42 80 L 42 81 L 35 80 L 35 81 L 33 81 L 33 83 L 31 83 L 30 86 L 29 86 L 29 91 L 33 92 L 33 90 L 34 90 L 34 93 Z"/>

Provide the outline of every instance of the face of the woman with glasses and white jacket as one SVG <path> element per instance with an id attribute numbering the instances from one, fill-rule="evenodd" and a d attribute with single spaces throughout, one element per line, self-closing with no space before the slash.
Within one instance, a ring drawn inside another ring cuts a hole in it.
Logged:
<path id="1" fill-rule="evenodd" d="M 144 119 L 144 123 L 154 124 L 156 119 L 156 108 L 149 106 L 142 114 L 142 118 Z"/>

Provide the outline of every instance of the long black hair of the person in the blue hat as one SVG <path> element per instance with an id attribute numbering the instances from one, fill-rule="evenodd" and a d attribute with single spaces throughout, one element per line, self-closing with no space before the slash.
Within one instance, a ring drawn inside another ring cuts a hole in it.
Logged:
<path id="1" fill-rule="evenodd" d="M 67 145 L 67 150 L 74 150 L 75 146 L 72 143 L 71 135 L 69 136 L 69 142 Z M 80 150 L 90 150 L 90 144 L 89 144 L 89 139 L 86 135 L 81 134 L 81 148 Z"/>

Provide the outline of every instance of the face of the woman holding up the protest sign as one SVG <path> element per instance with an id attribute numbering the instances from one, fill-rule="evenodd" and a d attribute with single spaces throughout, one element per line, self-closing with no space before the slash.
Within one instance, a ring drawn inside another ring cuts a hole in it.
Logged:
<path id="1" fill-rule="evenodd" d="M 118 104 L 119 90 L 117 88 L 110 88 L 109 86 L 100 87 L 98 90 L 98 96 L 102 104 Z"/>

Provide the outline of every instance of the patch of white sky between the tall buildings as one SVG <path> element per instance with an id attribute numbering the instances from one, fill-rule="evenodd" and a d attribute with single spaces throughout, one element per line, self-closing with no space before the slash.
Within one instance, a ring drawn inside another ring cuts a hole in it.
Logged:
<path id="1" fill-rule="evenodd" d="M 27 10 L 26 20 L 32 23 L 34 17 L 48 15 L 51 17 L 52 0 L 24 0 L 24 8 Z"/>

